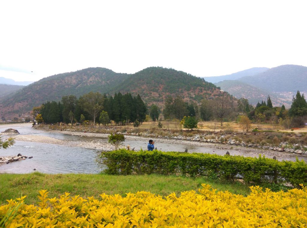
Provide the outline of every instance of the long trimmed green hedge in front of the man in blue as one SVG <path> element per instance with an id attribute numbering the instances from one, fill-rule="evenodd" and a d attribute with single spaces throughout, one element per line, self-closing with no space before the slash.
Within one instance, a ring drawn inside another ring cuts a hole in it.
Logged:
<path id="1" fill-rule="evenodd" d="M 242 178 L 246 183 L 291 183 L 307 185 L 307 164 L 302 161 L 277 161 L 259 158 L 202 153 L 162 151 L 102 152 L 105 173 L 117 175 L 164 174 L 190 177 L 209 176 L 234 181 Z"/>

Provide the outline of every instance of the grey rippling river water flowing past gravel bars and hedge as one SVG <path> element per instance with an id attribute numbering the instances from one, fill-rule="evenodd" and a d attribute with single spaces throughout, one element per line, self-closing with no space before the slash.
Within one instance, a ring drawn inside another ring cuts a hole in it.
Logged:
<path id="1" fill-rule="evenodd" d="M 76 136 L 64 133 L 55 133 L 52 131 L 36 130 L 31 128 L 31 124 L 12 124 L 12 125 L 0 125 L 0 132 L 8 128 L 14 128 L 19 131 L 21 135 L 35 135 L 35 136 L 49 136 L 52 138 L 66 140 L 66 141 L 100 141 L 107 142 L 106 137 L 87 137 Z M 6 138 L 7 136 L 2 136 Z M 130 148 L 136 148 L 137 150 L 147 148 L 147 141 L 137 139 L 126 139 L 124 145 L 130 145 Z M 175 140 L 172 143 L 158 142 L 156 146 L 162 151 L 185 151 L 199 152 L 199 153 L 214 153 L 224 155 L 228 150 L 231 155 L 243 155 L 249 157 L 258 156 L 259 153 L 255 151 L 240 151 L 239 149 L 220 149 L 210 148 L 205 146 L 195 146 L 177 143 Z M 219 146 L 219 145 L 217 145 Z M 95 149 L 65 146 L 49 143 L 37 143 L 27 141 L 16 141 L 16 143 L 6 150 L 0 150 L 0 156 L 11 156 L 21 153 L 22 155 L 33 156 L 32 159 L 25 159 L 21 161 L 11 162 L 0 166 L 0 173 L 30 173 L 33 170 L 37 170 L 42 173 L 57 174 L 57 173 L 99 173 L 103 170 L 103 167 L 97 158 L 100 154 Z M 276 156 L 278 160 L 293 160 L 296 156 L 286 152 L 276 151 L 262 151 L 263 155 L 268 158 Z M 298 159 L 307 160 L 305 156 L 298 156 Z"/>

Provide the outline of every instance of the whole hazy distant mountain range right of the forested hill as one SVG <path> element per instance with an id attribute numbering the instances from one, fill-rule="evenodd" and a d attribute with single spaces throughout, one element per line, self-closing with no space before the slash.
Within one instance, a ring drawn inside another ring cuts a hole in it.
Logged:
<path id="1" fill-rule="evenodd" d="M 256 72 L 253 69 L 264 71 L 253 74 Z M 216 82 L 218 78 L 227 78 L 227 80 Z M 251 68 L 226 76 L 205 77 L 204 79 L 215 82 L 222 90 L 233 94 L 238 99 L 241 97 L 249 99 L 253 105 L 258 101 L 266 101 L 266 97 L 270 95 L 273 105 L 284 104 L 290 107 L 293 94 L 297 90 L 305 95 L 307 91 L 307 67 L 300 65 L 281 65 L 271 69 Z"/>

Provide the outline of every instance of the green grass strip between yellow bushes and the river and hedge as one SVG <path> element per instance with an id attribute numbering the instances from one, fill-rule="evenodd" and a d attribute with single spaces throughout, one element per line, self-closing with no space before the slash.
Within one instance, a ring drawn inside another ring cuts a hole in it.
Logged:
<path id="1" fill-rule="evenodd" d="M 99 194 L 120 194 L 125 196 L 128 192 L 148 191 L 167 196 L 172 192 L 180 195 L 180 192 L 201 188 L 201 184 L 212 185 L 217 190 L 247 195 L 250 189 L 239 182 L 229 183 L 208 178 L 188 178 L 162 175 L 131 175 L 114 176 L 106 174 L 0 174 L 0 205 L 7 199 L 15 199 L 20 196 L 25 198 L 26 204 L 37 204 L 38 191 L 47 189 L 49 198 L 59 197 L 64 192 L 70 192 L 72 196 L 82 197 Z"/>

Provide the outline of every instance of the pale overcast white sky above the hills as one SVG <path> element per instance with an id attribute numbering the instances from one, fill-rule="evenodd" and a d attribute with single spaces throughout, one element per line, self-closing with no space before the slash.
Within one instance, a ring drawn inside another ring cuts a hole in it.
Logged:
<path id="1" fill-rule="evenodd" d="M 307 1 L 1 1 L 0 77 L 307 66 Z"/>

